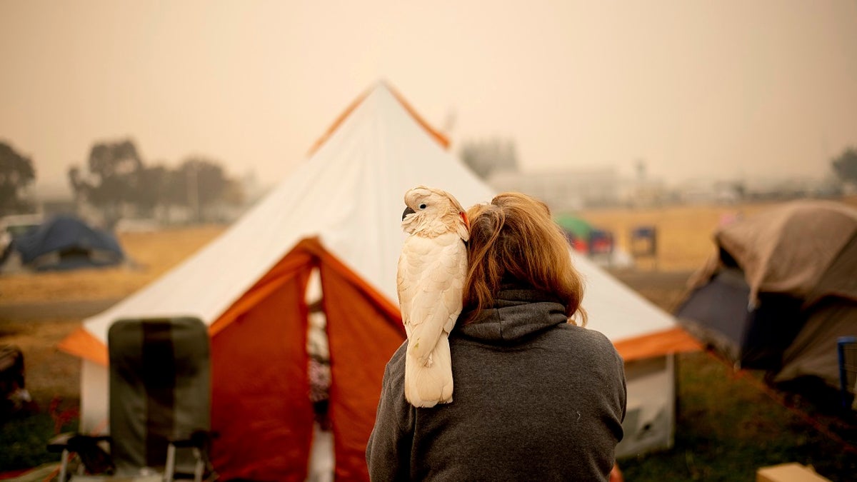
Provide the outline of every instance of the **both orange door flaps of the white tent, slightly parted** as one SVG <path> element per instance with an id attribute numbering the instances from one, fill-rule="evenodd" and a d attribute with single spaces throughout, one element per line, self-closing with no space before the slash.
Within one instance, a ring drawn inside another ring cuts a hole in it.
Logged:
<path id="1" fill-rule="evenodd" d="M 213 323 L 213 464 L 223 479 L 307 477 L 309 274 L 318 267 L 327 316 L 336 479 L 368 480 L 366 443 L 384 367 L 405 340 L 398 308 L 305 239 Z"/>

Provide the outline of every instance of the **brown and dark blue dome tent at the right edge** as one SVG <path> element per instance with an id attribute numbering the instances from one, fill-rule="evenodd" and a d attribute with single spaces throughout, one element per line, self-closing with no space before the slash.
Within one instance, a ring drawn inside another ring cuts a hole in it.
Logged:
<path id="1" fill-rule="evenodd" d="M 677 312 L 737 365 L 839 387 L 836 340 L 857 334 L 857 209 L 797 201 L 722 226 Z"/>

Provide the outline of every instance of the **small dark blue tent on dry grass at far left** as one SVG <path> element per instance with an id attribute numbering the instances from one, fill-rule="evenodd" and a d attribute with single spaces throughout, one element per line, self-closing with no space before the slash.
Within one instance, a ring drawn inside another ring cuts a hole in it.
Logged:
<path id="1" fill-rule="evenodd" d="M 57 215 L 12 240 L 21 262 L 39 270 L 111 266 L 125 255 L 110 233 L 69 214 Z"/>

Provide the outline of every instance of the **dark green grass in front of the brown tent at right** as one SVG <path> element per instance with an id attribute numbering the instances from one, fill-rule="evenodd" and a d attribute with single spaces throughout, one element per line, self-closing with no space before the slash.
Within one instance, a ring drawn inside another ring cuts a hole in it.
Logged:
<path id="1" fill-rule="evenodd" d="M 677 377 L 674 447 L 620 460 L 628 482 L 752 482 L 759 467 L 786 462 L 811 465 L 833 481 L 857 473 L 857 453 L 847 448 L 857 443 L 853 434 L 841 437 L 828 420 L 789 408 L 758 375 L 736 375 L 696 352 L 680 355 Z"/>

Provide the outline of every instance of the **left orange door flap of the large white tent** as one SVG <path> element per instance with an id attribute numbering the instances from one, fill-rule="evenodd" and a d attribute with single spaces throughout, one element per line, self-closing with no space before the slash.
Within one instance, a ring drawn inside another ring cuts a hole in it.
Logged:
<path id="1" fill-rule="evenodd" d="M 212 461 L 223 479 L 307 477 L 313 407 L 303 297 L 312 265 L 303 261 L 212 338 Z"/>

